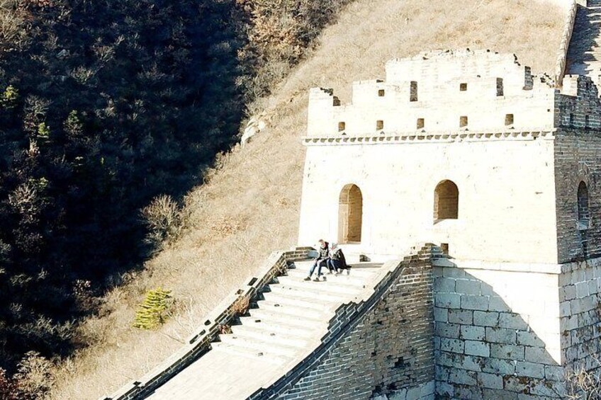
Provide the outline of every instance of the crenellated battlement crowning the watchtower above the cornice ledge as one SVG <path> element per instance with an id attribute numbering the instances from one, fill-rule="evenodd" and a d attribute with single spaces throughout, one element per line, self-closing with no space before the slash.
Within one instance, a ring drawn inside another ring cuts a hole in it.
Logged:
<path id="1" fill-rule="evenodd" d="M 308 137 L 403 132 L 503 132 L 601 127 L 587 76 L 566 76 L 563 93 L 511 54 L 432 51 L 386 64 L 386 81 L 356 81 L 352 102 L 310 91 Z"/>

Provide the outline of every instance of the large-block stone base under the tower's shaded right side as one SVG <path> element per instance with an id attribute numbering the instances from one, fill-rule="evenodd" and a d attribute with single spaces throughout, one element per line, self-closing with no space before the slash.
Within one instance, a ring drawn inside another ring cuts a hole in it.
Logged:
<path id="1" fill-rule="evenodd" d="M 601 367 L 601 260 L 562 265 L 559 276 L 561 348 L 574 370 Z"/>

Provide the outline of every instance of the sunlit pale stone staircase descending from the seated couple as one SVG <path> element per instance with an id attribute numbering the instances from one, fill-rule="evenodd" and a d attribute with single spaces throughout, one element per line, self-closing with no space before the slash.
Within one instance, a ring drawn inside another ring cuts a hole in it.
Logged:
<path id="1" fill-rule="evenodd" d="M 276 278 L 231 333 L 149 396 L 150 399 L 246 399 L 268 387 L 321 343 L 342 304 L 359 302 L 381 279 L 381 264 L 355 263 L 350 273 L 305 281 L 313 261 Z M 314 275 L 315 276 L 315 275 Z"/>

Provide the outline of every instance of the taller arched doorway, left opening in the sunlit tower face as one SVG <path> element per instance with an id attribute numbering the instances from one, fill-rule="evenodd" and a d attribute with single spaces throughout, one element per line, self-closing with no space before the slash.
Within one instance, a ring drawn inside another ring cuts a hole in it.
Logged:
<path id="1" fill-rule="evenodd" d="M 349 184 L 342 188 L 338 200 L 338 242 L 361 242 L 363 223 L 363 196 L 357 185 Z"/>

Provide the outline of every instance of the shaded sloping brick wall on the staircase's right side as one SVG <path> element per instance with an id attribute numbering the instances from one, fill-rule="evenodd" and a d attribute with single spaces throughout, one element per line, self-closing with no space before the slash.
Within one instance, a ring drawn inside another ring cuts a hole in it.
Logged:
<path id="1" fill-rule="evenodd" d="M 369 299 L 337 310 L 322 345 L 250 399 L 433 399 L 431 259 L 437 255 L 427 245 L 395 262 Z"/>

